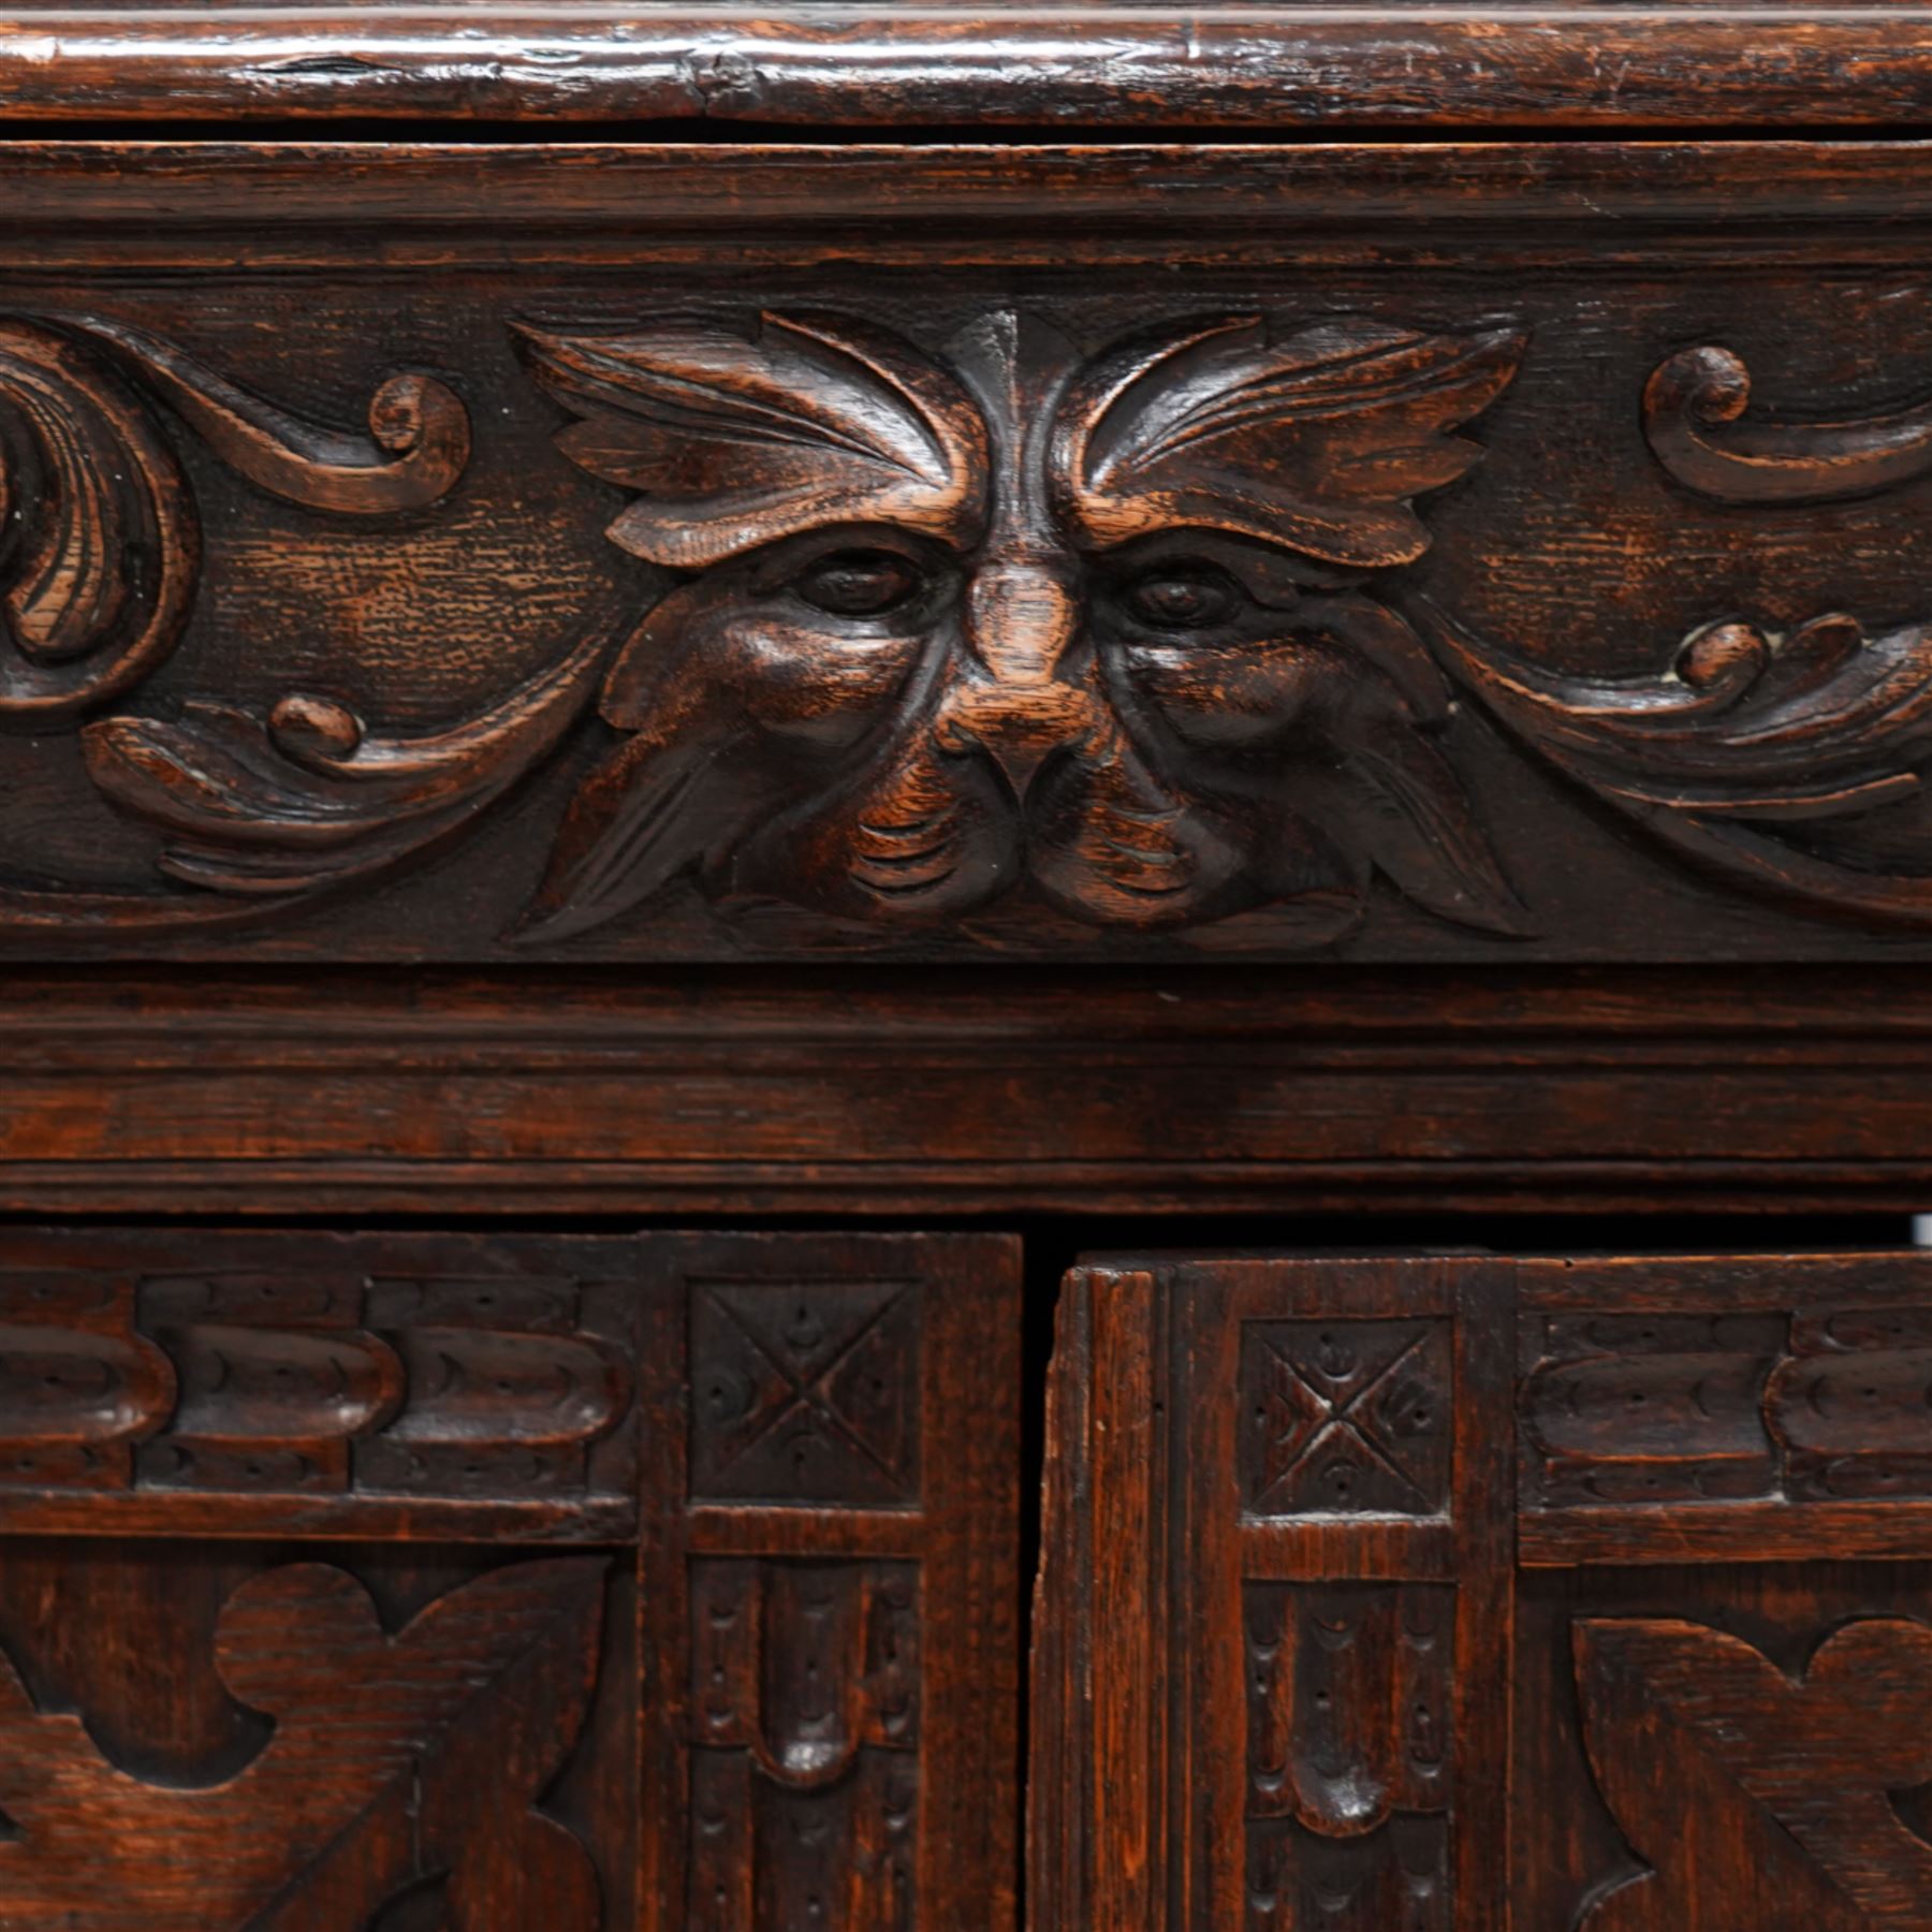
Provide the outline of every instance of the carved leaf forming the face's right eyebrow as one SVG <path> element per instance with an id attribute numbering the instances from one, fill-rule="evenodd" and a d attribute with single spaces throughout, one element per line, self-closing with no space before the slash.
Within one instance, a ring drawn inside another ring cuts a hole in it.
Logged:
<path id="1" fill-rule="evenodd" d="M 1430 543 L 1410 498 L 1482 456 L 1451 435 L 1509 386 L 1526 336 L 1333 317 L 1275 338 L 1236 317 L 1103 357 L 1055 444 L 1066 514 L 1101 543 L 1202 526 L 1349 568 Z"/>

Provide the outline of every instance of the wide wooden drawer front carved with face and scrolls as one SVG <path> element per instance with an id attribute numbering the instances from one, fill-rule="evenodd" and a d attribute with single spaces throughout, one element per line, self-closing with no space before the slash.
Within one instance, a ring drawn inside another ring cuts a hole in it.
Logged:
<path id="1" fill-rule="evenodd" d="M 1909 149 L 0 170 L 15 956 L 1928 947 Z"/>

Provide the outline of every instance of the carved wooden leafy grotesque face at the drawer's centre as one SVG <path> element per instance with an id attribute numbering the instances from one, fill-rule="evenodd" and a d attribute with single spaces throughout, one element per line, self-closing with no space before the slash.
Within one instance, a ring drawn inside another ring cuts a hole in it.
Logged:
<path id="1" fill-rule="evenodd" d="M 1410 498 L 1509 384 L 1513 328 L 1209 319 L 1092 361 L 1010 311 L 945 365 L 873 325 L 761 315 L 526 330 L 638 491 L 611 537 L 684 574 L 612 663 L 626 732 L 583 786 L 531 937 L 694 871 L 848 922 L 1009 893 L 1180 925 L 1381 869 L 1511 929 L 1430 742 L 1445 696 L 1364 580 L 1428 547 Z"/>

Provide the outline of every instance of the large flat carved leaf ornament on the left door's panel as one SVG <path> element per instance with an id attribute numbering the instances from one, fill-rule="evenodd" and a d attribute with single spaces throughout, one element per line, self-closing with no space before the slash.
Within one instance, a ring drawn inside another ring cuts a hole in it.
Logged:
<path id="1" fill-rule="evenodd" d="M 539 1804 L 597 1679 L 605 1567 L 512 1563 L 394 1633 L 348 1571 L 265 1571 L 214 1667 L 272 1731 L 207 1787 L 120 1770 L 0 1660 L 0 1922 L 348 1928 L 437 1886 L 446 1932 L 599 1932 L 595 1866 Z"/>

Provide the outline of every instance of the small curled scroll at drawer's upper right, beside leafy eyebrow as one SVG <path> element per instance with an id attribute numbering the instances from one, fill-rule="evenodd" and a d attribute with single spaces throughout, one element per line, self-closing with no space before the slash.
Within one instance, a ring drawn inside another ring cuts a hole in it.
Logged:
<path id="1" fill-rule="evenodd" d="M 1752 423 L 1731 350 L 1679 350 L 1644 386 L 1644 435 L 1679 483 L 1719 502 L 1868 497 L 1932 473 L 1932 404 L 1837 423 Z"/>

